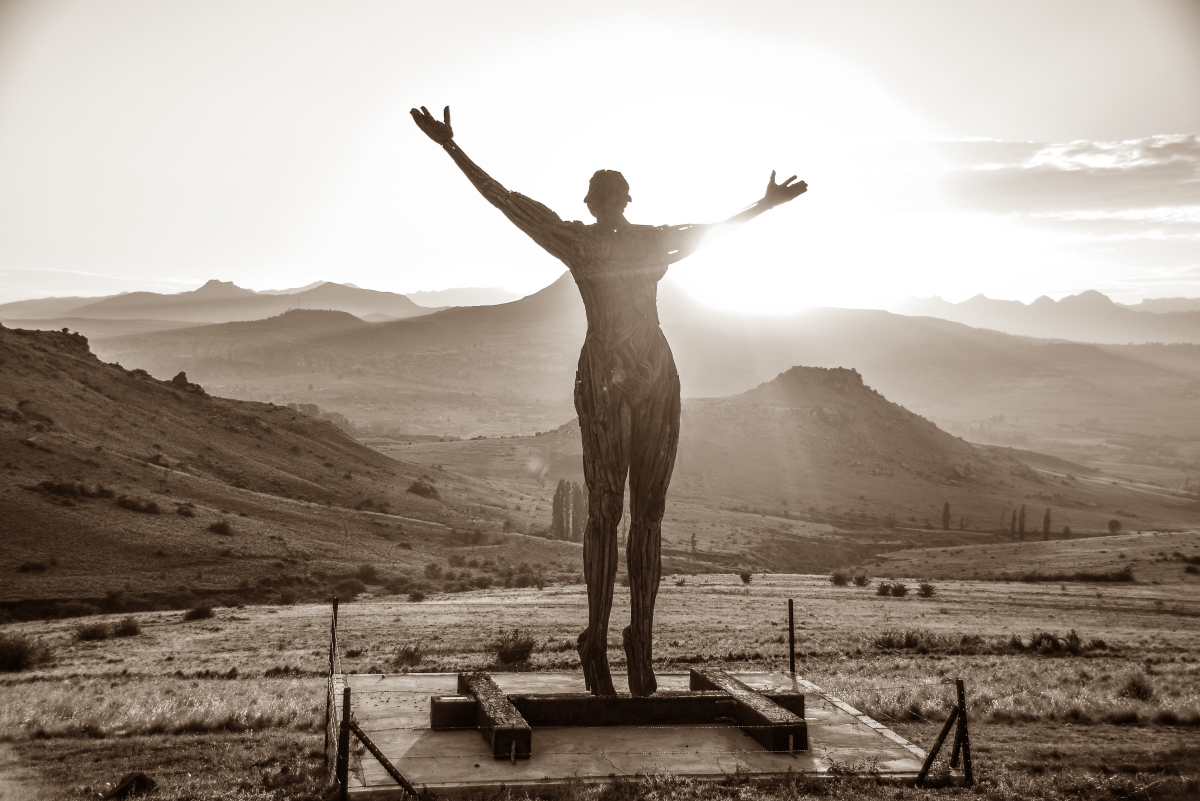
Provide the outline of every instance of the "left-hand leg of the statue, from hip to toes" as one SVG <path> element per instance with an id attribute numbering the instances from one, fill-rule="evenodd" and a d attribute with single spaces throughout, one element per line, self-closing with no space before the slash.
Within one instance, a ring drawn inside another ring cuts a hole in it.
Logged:
<path id="1" fill-rule="evenodd" d="M 588 486 L 588 522 L 583 530 L 583 577 L 588 585 L 588 627 L 580 634 L 580 662 L 588 689 L 613 695 L 608 671 L 608 616 L 617 578 L 617 526 L 629 469 L 629 406 L 607 385 L 599 360 L 580 355 L 575 410 L 583 434 L 583 477 Z"/>

